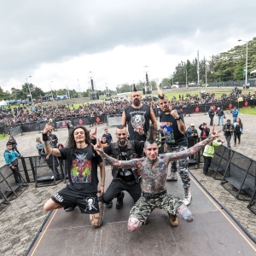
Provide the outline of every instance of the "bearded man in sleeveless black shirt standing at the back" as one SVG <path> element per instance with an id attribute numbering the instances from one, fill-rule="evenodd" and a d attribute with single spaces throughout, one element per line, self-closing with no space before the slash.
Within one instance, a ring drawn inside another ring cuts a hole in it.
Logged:
<path id="1" fill-rule="evenodd" d="M 126 127 L 126 123 L 128 124 L 128 131 L 132 141 L 145 142 L 147 139 L 149 120 L 151 120 L 155 129 L 157 129 L 153 109 L 142 103 L 142 96 L 140 92 L 137 91 L 135 84 L 133 84 L 131 106 L 126 107 L 123 111 L 121 125 Z"/>

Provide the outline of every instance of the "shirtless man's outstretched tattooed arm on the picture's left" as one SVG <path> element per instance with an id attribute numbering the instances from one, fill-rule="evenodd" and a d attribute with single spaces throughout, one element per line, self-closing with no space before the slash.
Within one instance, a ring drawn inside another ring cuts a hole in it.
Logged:
<path id="1" fill-rule="evenodd" d="M 96 145 L 91 144 L 91 146 L 94 148 L 94 150 L 96 150 L 97 154 L 101 155 L 102 158 L 106 160 L 106 162 L 108 162 L 110 166 L 117 167 L 117 168 L 125 168 L 125 169 L 129 169 L 132 167 L 140 168 L 141 166 L 140 159 L 123 161 L 123 160 L 116 160 L 115 158 L 109 156 L 104 152 L 100 139 L 98 139 L 98 142 L 96 143 Z"/>

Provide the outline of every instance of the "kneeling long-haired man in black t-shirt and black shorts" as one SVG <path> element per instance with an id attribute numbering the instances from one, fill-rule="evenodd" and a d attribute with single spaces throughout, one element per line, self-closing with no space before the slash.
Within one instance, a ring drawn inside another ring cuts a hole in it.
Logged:
<path id="1" fill-rule="evenodd" d="M 67 138 L 67 148 L 58 149 L 49 146 L 47 133 L 51 129 L 53 127 L 49 123 L 44 127 L 44 150 L 46 154 L 67 160 L 69 184 L 44 204 L 44 210 L 78 206 L 81 213 L 90 214 L 90 223 L 93 227 L 100 227 L 102 202 L 98 201 L 97 197 L 97 165 L 101 168 L 101 195 L 104 192 L 105 168 L 102 158 L 90 145 L 90 131 L 83 126 L 74 128 Z"/>

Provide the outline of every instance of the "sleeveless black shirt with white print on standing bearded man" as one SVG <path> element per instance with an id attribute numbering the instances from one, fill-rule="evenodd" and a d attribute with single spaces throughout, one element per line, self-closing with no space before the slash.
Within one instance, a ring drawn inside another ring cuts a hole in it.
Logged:
<path id="1" fill-rule="evenodd" d="M 141 108 L 132 108 L 131 106 L 125 108 L 126 122 L 128 124 L 128 131 L 130 140 L 132 141 L 146 141 L 147 132 L 149 129 L 150 106 L 143 104 Z M 143 126 L 143 135 L 139 135 L 134 126 Z"/>

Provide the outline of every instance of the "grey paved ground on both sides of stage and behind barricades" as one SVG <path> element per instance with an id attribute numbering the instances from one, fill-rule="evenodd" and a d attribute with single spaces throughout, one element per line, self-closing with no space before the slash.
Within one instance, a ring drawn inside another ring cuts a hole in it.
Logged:
<path id="1" fill-rule="evenodd" d="M 230 113 L 226 113 L 226 116 L 227 119 L 231 117 Z M 256 160 L 256 146 L 252 136 L 256 127 L 256 116 L 241 114 L 239 117 L 244 124 L 245 133 L 242 135 L 241 144 L 236 147 L 236 150 Z M 194 123 L 197 128 L 203 121 L 209 124 L 208 116 L 203 113 L 185 117 L 187 126 Z M 215 118 L 215 121 L 217 122 L 217 118 Z M 102 136 L 106 126 L 107 125 L 98 126 L 99 137 Z M 216 127 L 218 128 L 220 126 Z M 115 127 L 108 127 L 108 131 L 114 135 Z M 66 129 L 56 131 L 55 134 L 59 137 L 59 143 L 65 143 L 67 140 Z M 41 137 L 41 134 L 39 136 Z M 31 132 L 23 136 L 15 137 L 21 154 L 24 156 L 37 154 L 37 149 L 35 148 L 36 137 L 38 137 L 38 132 Z M 0 142 L 1 155 L 3 155 L 5 144 L 6 141 Z M 3 164 L 4 161 L 2 157 L 0 159 L 0 165 L 2 166 Z M 253 212 L 247 209 L 247 202 L 237 201 L 234 196 L 230 195 L 230 193 L 219 184 L 219 181 L 212 179 L 212 177 L 202 175 L 201 169 L 191 169 L 190 171 L 256 239 L 256 217 Z M 30 183 L 29 187 L 17 199 L 11 201 L 11 205 L 0 214 L 0 255 L 23 255 L 26 252 L 34 236 L 37 234 L 38 229 L 43 224 L 44 218 L 47 216 L 47 212 L 43 210 L 44 202 L 47 201 L 55 191 L 64 186 L 65 184 L 59 183 L 56 186 L 36 189 L 34 188 L 34 184 Z M 191 192 L 193 195 L 193 191 Z"/>

